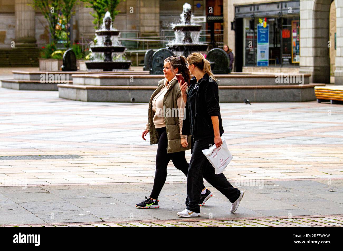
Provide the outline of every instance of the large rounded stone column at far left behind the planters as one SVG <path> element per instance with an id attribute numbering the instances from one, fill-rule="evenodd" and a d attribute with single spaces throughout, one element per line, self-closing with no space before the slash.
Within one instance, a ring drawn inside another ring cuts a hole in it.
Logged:
<path id="1" fill-rule="evenodd" d="M 15 47 L 36 47 L 35 10 L 31 0 L 15 0 Z"/>

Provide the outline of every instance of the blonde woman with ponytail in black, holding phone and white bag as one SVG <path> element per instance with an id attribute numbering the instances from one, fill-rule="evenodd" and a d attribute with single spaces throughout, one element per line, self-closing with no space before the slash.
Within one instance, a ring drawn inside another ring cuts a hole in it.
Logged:
<path id="1" fill-rule="evenodd" d="M 192 157 L 187 175 L 186 209 L 178 212 L 180 217 L 200 216 L 199 193 L 203 178 L 214 188 L 223 193 L 232 203 L 230 212 L 237 210 L 244 191 L 234 188 L 223 173 L 216 175 L 214 168 L 202 150 L 213 144 L 223 144 L 224 133 L 219 107 L 219 92 L 216 79 L 211 71 L 211 64 L 201 53 L 195 52 L 187 57 L 187 67 L 194 77 L 190 81 L 188 93 L 181 86 L 181 96 L 186 103 L 182 134 L 192 135 Z"/>

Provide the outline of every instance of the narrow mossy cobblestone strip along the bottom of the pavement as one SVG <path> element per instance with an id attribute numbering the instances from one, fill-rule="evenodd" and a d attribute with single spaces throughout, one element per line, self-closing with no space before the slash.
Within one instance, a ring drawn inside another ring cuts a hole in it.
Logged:
<path id="1" fill-rule="evenodd" d="M 249 220 L 199 220 L 199 221 L 141 221 L 126 223 L 84 223 L 84 224 L 43 224 L 0 225 L 1 227 L 343 227 L 343 217 L 318 217 L 296 219 L 249 219 Z"/>

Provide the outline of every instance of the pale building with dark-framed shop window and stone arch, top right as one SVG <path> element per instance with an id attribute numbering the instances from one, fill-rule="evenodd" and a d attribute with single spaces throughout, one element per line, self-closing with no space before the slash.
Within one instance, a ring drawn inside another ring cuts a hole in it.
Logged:
<path id="1" fill-rule="evenodd" d="M 236 71 L 309 73 L 311 82 L 343 85 L 343 1 L 227 0 L 226 4 L 224 40 L 234 50 Z M 260 39 L 261 21 L 267 24 L 267 43 Z M 261 64 L 263 57 L 267 65 Z"/>

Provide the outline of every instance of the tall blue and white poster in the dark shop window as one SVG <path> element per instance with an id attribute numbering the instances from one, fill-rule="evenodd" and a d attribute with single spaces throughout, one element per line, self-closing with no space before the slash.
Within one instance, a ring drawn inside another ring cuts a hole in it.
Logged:
<path id="1" fill-rule="evenodd" d="M 269 24 L 257 25 L 257 66 L 269 65 Z"/>

